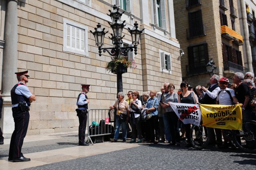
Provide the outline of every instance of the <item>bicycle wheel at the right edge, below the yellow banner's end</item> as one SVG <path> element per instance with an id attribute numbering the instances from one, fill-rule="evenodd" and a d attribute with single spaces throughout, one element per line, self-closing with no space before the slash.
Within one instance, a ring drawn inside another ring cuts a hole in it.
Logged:
<path id="1" fill-rule="evenodd" d="M 256 121 L 246 121 L 242 130 L 233 130 L 233 141 L 243 151 L 256 153 Z"/>

